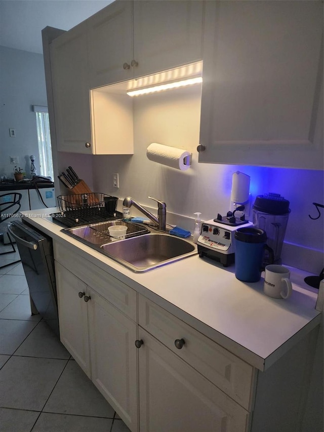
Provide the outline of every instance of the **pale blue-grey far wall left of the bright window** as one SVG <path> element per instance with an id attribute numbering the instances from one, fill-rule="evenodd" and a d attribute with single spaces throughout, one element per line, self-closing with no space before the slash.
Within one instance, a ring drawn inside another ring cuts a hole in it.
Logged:
<path id="1" fill-rule="evenodd" d="M 37 133 L 32 105 L 47 105 L 43 56 L 0 46 L 0 174 L 13 178 L 9 156 L 18 156 L 19 167 L 30 177 L 29 156 L 36 156 Z M 16 137 L 9 136 L 15 129 Z"/>

